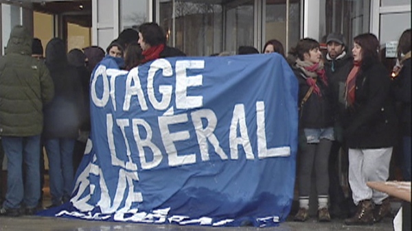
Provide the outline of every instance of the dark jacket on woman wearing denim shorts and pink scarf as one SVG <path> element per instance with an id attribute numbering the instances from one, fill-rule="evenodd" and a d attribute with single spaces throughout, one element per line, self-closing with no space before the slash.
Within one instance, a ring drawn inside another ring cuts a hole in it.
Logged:
<path id="1" fill-rule="evenodd" d="M 293 69 L 299 82 L 298 106 L 304 99 L 310 86 L 306 83 L 307 76 L 300 69 Z M 312 93 L 303 107 L 299 109 L 299 128 L 326 128 L 333 126 L 332 101 L 330 88 L 325 86 L 318 77 L 316 82 L 321 90 L 321 96 Z"/>

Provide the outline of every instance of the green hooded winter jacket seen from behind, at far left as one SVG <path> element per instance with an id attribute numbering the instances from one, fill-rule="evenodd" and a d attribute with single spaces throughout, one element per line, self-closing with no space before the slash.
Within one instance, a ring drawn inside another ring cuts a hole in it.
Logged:
<path id="1" fill-rule="evenodd" d="M 32 36 L 17 25 L 0 58 L 0 136 L 35 136 L 54 85 L 43 61 L 32 58 Z"/>

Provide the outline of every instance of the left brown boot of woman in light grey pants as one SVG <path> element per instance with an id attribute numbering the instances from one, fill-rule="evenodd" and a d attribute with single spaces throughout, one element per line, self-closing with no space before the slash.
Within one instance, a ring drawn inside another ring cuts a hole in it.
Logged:
<path id="1" fill-rule="evenodd" d="M 374 204 L 366 199 L 358 204 L 353 217 L 345 219 L 347 226 L 372 225 L 374 223 Z"/>

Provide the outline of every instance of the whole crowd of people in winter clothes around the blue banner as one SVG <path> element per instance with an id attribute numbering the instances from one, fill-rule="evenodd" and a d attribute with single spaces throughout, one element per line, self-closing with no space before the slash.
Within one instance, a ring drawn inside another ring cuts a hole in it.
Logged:
<path id="1" fill-rule="evenodd" d="M 354 37 L 352 50 L 343 34 L 331 33 L 324 42 L 325 55 L 313 38 L 299 40 L 288 54 L 275 39 L 262 49 L 285 58 L 299 83 L 299 209 L 294 219 L 308 219 L 313 183 L 319 221 L 341 216 L 347 225 L 370 225 L 390 212 L 390 204 L 387 194 L 366 182 L 388 180 L 393 147 L 400 139 L 402 179 L 411 180 L 411 29 L 400 37 L 393 73 L 380 61 L 374 34 Z M 66 54 L 63 40 L 53 38 L 43 58 L 41 41 L 24 27 L 14 27 L 0 59 L 0 163 L 4 155 L 8 158 L 0 215 L 32 215 L 43 207 L 43 148 L 49 160 L 50 207 L 70 199 L 91 130 L 93 69 L 104 59 L 130 71 L 157 58 L 185 56 L 166 43 L 159 25 L 144 23 L 138 32 L 122 31 L 106 52 L 91 46 Z M 238 55 L 255 53 L 260 53 L 255 47 L 238 47 Z M 230 55 L 223 51 L 211 56 Z M 350 198 L 336 171 L 340 153 L 348 160 Z"/>

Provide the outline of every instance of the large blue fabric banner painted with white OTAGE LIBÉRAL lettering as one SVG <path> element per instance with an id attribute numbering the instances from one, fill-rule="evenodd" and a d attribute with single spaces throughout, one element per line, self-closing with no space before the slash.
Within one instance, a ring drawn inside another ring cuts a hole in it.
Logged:
<path id="1" fill-rule="evenodd" d="M 276 53 L 91 76 L 92 131 L 59 217 L 274 226 L 293 201 L 297 80 Z"/>

